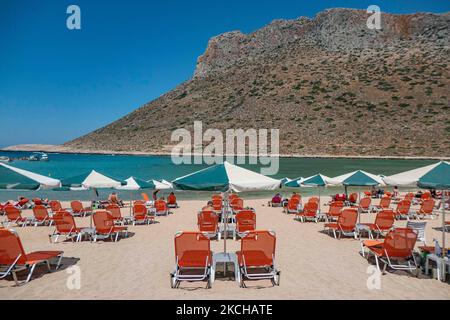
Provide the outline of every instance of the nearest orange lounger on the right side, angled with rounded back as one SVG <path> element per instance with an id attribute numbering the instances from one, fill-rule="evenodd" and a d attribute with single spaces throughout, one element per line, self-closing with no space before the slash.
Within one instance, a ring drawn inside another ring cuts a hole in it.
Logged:
<path id="1" fill-rule="evenodd" d="M 414 247 L 417 241 L 417 233 L 409 228 L 397 228 L 388 233 L 384 242 L 366 240 L 361 242 L 362 255 L 365 257 L 364 247 L 369 250 L 369 254 L 375 256 L 378 271 L 380 271 L 379 260 L 384 263 L 383 273 L 387 266 L 394 270 L 408 270 L 411 273 L 417 269 L 414 258 Z M 414 266 L 410 263 L 413 260 Z M 407 264 L 400 264 L 404 260 Z M 397 264 L 394 264 L 397 261 Z"/>

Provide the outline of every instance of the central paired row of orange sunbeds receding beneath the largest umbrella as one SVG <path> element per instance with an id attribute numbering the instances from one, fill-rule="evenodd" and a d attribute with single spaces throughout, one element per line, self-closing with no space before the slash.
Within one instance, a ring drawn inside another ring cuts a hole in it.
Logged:
<path id="1" fill-rule="evenodd" d="M 241 249 L 235 253 L 235 277 L 240 286 L 246 286 L 244 280 L 263 279 L 279 285 L 280 271 L 275 264 L 276 234 L 273 231 L 256 230 L 256 213 L 253 209 L 244 208 L 241 198 L 232 195 L 228 201 L 232 212 L 230 222 L 235 223 L 233 238 L 236 240 L 239 237 L 241 242 Z M 213 238 L 220 240 L 222 233 L 224 237 L 228 236 L 219 227 L 219 220 L 224 223 L 228 219 L 223 214 L 223 199 L 215 195 L 212 202 L 214 210 L 207 209 L 198 213 L 198 231 L 179 232 L 175 235 L 176 267 L 170 274 L 172 288 L 178 288 L 182 281 L 206 281 L 207 288 L 212 285 L 215 263 L 210 241 Z M 197 271 L 197 274 L 192 271 Z"/>

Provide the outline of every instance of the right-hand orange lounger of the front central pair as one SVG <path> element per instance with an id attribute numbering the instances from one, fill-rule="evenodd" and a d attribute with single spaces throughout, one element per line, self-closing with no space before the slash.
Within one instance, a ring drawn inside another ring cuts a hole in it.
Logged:
<path id="1" fill-rule="evenodd" d="M 241 250 L 236 252 L 240 268 L 241 287 L 244 279 L 272 281 L 280 285 L 280 271 L 275 264 L 276 235 L 272 231 L 249 231 L 241 239 Z"/>

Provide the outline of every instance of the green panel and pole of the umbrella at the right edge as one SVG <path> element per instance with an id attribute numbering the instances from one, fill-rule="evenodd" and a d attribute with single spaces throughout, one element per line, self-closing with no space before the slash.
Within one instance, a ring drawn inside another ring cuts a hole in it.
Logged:
<path id="1" fill-rule="evenodd" d="M 442 190 L 442 254 L 445 253 L 445 191 L 450 190 L 450 163 L 440 162 L 417 182 L 419 188 Z M 445 270 L 445 267 L 444 269 Z"/>

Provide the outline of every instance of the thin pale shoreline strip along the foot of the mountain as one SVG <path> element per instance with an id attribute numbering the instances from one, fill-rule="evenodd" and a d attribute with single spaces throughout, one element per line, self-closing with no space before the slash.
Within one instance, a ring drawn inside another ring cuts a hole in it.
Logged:
<path id="1" fill-rule="evenodd" d="M 170 157 L 169 152 L 142 152 L 142 151 L 114 151 L 114 150 L 74 150 L 58 145 L 17 145 L 0 148 L 2 152 L 46 152 L 61 154 L 91 154 L 91 155 L 118 155 L 118 156 L 162 156 Z M 196 156 L 198 154 L 189 153 L 188 156 Z M 203 156 L 211 156 L 204 154 Z M 224 155 L 225 157 L 227 155 Z M 237 156 L 254 156 L 254 155 L 237 155 Z M 358 155 L 314 155 L 314 154 L 278 154 L 274 155 L 284 159 L 364 159 L 364 160 L 450 160 L 450 156 L 427 157 L 427 156 L 358 156 Z"/>

